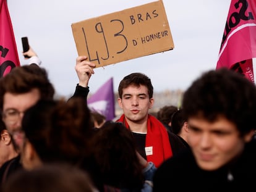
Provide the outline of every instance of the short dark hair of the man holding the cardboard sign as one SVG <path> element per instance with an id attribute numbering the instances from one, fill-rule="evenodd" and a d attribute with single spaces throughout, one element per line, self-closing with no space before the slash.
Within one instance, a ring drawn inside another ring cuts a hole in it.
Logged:
<path id="1" fill-rule="evenodd" d="M 122 98 L 122 90 L 127 88 L 130 85 L 140 86 L 144 85 L 148 88 L 148 96 L 149 98 L 153 98 L 153 85 L 151 83 L 150 78 L 143 73 L 130 73 L 124 77 L 118 87 L 119 98 Z"/>

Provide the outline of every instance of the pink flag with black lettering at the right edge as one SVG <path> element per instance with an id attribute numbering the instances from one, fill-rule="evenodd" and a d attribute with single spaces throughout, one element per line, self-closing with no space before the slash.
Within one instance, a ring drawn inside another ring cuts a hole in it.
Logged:
<path id="1" fill-rule="evenodd" d="M 256 1 L 231 0 L 216 69 L 228 67 L 254 82 Z"/>

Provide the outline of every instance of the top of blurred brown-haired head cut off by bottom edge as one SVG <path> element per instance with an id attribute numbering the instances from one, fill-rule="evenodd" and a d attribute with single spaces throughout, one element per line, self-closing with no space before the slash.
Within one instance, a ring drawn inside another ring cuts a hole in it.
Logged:
<path id="1" fill-rule="evenodd" d="M 96 192 L 89 175 L 67 164 L 48 164 L 19 170 L 2 186 L 2 192 Z"/>

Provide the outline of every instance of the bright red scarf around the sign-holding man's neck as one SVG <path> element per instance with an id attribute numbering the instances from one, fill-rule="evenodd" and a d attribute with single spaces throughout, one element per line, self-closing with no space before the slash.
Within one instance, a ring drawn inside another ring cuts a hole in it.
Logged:
<path id="1" fill-rule="evenodd" d="M 122 114 L 120 119 L 116 120 L 116 122 L 122 122 L 126 128 L 129 128 L 124 114 Z M 145 148 L 151 147 L 153 147 L 151 150 L 153 154 L 147 155 L 147 161 L 153 162 L 156 167 L 159 167 L 164 160 L 173 156 L 166 128 L 153 115 L 148 114 Z"/>

